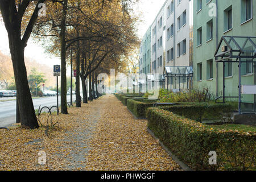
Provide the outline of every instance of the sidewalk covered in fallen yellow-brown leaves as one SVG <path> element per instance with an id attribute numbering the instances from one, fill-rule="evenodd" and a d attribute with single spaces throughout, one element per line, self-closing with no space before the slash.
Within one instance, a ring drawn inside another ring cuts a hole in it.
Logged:
<path id="1" fill-rule="evenodd" d="M 53 116 L 59 130 L 0 130 L 0 170 L 179 170 L 180 167 L 113 95 Z M 38 164 L 38 152 L 47 155 Z"/>

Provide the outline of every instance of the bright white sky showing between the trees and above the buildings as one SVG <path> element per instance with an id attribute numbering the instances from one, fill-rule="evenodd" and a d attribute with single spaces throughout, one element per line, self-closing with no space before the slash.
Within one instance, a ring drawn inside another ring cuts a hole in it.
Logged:
<path id="1" fill-rule="evenodd" d="M 140 0 L 139 3 L 134 6 L 135 13 L 143 20 L 143 22 L 137 26 L 139 38 L 143 37 L 165 1 L 166 0 Z M 6 55 L 10 55 L 8 36 L 3 22 L 0 22 L 0 51 Z M 44 52 L 44 48 L 39 43 L 35 43 L 35 40 L 32 39 L 29 39 L 24 55 L 39 63 L 47 64 L 52 68 L 53 65 L 60 64 L 59 57 L 48 55 Z M 67 68 L 67 73 L 70 73 L 70 68 Z"/>

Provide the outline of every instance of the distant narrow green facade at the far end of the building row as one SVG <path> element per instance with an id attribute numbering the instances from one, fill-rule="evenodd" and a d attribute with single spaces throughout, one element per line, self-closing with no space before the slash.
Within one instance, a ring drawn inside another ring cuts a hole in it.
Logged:
<path id="1" fill-rule="evenodd" d="M 151 27 L 148 28 L 141 42 L 139 70 L 146 75 L 151 73 Z"/>

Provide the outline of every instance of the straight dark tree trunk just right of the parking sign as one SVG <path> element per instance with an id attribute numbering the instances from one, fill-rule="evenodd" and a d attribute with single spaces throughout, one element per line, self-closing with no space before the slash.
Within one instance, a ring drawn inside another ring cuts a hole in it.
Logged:
<path id="1" fill-rule="evenodd" d="M 61 30 L 60 30 L 60 43 L 61 43 L 61 113 L 68 114 L 67 107 L 67 69 L 66 69 L 66 43 L 65 43 L 65 35 L 66 35 L 66 17 L 67 17 L 67 7 L 68 0 L 63 0 L 63 16 L 61 19 Z"/>

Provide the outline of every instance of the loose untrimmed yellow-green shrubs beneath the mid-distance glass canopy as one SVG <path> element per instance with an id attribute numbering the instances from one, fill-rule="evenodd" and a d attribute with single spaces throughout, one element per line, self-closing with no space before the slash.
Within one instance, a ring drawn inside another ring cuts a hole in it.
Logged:
<path id="1" fill-rule="evenodd" d="M 208 88 L 193 89 L 189 92 L 173 93 L 166 89 L 159 90 L 160 102 L 209 102 L 213 95 Z"/>

